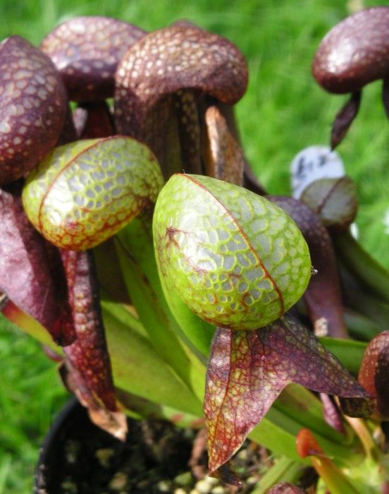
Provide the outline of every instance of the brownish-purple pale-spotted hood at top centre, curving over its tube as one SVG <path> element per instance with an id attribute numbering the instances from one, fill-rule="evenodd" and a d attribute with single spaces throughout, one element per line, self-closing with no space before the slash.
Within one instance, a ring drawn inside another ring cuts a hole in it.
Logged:
<path id="1" fill-rule="evenodd" d="M 233 104 L 247 86 L 247 64 L 228 40 L 194 26 L 172 25 L 149 33 L 125 54 L 116 71 L 119 133 L 144 138 L 154 107 L 180 89 L 195 89 Z"/>

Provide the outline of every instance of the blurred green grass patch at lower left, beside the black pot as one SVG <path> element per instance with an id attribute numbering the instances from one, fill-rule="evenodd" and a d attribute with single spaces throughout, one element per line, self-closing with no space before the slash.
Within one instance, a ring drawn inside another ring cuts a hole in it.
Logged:
<path id="1" fill-rule="evenodd" d="M 37 342 L 0 321 L 0 493 L 32 491 L 39 444 L 66 392 Z"/>

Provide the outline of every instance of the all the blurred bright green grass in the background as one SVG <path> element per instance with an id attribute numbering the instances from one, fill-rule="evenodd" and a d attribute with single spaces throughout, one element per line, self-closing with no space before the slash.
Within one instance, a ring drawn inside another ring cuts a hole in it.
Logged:
<path id="1" fill-rule="evenodd" d="M 385 4 L 385 2 L 383 2 Z M 63 20 L 113 16 L 155 30 L 189 19 L 235 42 L 249 63 L 247 95 L 237 104 L 242 143 L 271 193 L 289 193 L 289 164 L 303 147 L 328 143 L 345 97 L 329 95 L 311 76 L 321 37 L 353 9 L 373 1 L 340 0 L 31 0 L 0 2 L 1 39 L 39 44 Z M 389 267 L 389 124 L 381 82 L 364 90 L 362 108 L 338 152 L 359 193 L 360 240 Z M 55 367 L 39 345 L 0 320 L 0 494 L 29 493 L 39 443 L 66 399 Z"/>

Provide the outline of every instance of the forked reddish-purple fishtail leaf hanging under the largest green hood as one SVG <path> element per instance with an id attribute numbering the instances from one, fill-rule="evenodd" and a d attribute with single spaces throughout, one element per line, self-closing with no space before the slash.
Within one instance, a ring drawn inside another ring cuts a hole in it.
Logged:
<path id="1" fill-rule="evenodd" d="M 204 399 L 211 472 L 230 459 L 290 382 L 338 396 L 368 396 L 291 315 L 259 330 L 217 330 Z"/>

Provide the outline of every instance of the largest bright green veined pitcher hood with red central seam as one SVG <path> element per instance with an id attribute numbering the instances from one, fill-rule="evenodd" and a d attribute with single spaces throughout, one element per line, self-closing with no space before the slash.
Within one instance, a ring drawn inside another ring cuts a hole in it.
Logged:
<path id="1" fill-rule="evenodd" d="M 310 277 L 292 219 L 259 195 L 205 176 L 176 174 L 154 212 L 166 284 L 204 320 L 252 330 L 280 317 Z"/>

